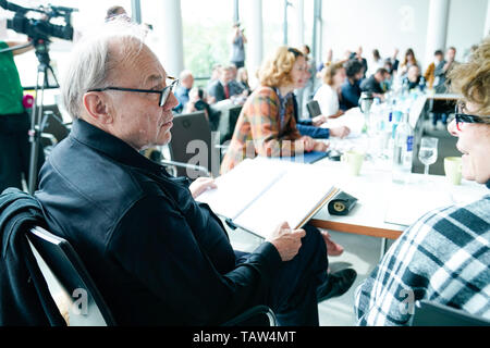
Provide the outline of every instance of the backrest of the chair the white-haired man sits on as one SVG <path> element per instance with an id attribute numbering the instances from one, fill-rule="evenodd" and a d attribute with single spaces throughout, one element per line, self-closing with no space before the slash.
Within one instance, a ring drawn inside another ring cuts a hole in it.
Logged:
<path id="1" fill-rule="evenodd" d="M 82 260 L 65 239 L 42 227 L 32 228 L 27 239 L 50 293 L 59 287 L 66 295 L 71 326 L 115 325 Z"/>

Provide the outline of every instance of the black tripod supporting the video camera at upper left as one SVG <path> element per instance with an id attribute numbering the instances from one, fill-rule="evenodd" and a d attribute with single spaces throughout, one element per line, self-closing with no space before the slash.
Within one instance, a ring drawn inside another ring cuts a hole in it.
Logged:
<path id="1" fill-rule="evenodd" d="M 36 57 L 39 61 L 37 66 L 37 77 L 36 77 L 36 96 L 34 98 L 34 107 L 30 115 L 30 128 L 28 132 L 29 142 L 30 142 L 30 159 L 29 159 L 29 177 L 27 187 L 29 194 L 34 194 L 37 185 L 37 164 L 39 160 L 39 149 L 40 149 L 40 136 L 42 134 L 42 128 L 45 125 L 45 120 L 42 116 L 42 103 L 45 98 L 45 88 L 59 88 L 57 76 L 52 70 L 49 58 L 49 47 L 46 40 L 33 40 L 34 48 L 36 50 Z M 56 85 L 49 85 L 49 73 L 51 73 Z"/>

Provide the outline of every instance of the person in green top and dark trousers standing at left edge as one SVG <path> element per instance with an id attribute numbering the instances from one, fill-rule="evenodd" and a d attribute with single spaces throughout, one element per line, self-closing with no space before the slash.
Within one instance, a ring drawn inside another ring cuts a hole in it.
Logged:
<path id="1" fill-rule="evenodd" d="M 15 65 L 14 55 L 34 47 L 9 50 L 27 42 L 0 41 L 0 192 L 8 187 L 22 189 L 22 175 L 28 181 L 30 121 L 23 105 L 24 90 Z M 45 162 L 39 149 L 38 169 Z"/>

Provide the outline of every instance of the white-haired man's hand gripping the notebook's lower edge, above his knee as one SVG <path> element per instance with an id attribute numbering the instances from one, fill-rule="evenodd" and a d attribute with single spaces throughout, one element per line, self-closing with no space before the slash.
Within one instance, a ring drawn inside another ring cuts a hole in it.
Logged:
<path id="1" fill-rule="evenodd" d="M 283 222 L 266 240 L 278 249 L 282 261 L 290 261 L 299 251 L 305 235 L 304 229 L 291 229 L 290 225 Z"/>

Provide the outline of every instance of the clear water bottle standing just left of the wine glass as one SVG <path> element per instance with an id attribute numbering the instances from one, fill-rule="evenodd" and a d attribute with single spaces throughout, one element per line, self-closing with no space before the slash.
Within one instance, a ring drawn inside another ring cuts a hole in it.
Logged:
<path id="1" fill-rule="evenodd" d="M 403 114 L 402 122 L 397 125 L 393 141 L 393 183 L 404 184 L 408 182 L 412 172 L 412 159 L 414 154 L 414 129 L 408 123 L 408 112 Z"/>

